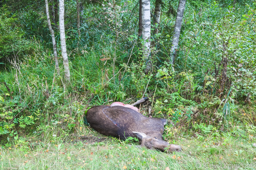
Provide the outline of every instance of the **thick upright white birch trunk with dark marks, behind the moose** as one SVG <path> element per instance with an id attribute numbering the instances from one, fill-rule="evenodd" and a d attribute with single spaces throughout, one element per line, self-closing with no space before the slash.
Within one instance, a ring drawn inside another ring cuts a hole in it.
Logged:
<path id="1" fill-rule="evenodd" d="M 144 40 L 144 57 L 146 59 L 145 73 L 151 68 L 150 58 L 150 0 L 142 0 L 142 40 Z"/>

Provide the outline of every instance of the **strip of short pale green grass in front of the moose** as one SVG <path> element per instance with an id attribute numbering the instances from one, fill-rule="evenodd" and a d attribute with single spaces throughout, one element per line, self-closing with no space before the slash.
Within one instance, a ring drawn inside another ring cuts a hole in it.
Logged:
<path id="1" fill-rule="evenodd" d="M 97 141 L 98 133 L 88 136 Z M 0 169 L 59 170 L 59 169 L 255 169 L 256 148 L 254 138 L 234 137 L 178 137 L 182 152 L 164 153 L 136 147 L 136 143 L 103 137 L 101 142 L 83 140 L 58 143 L 30 139 L 26 144 L 1 147 Z M 69 137 L 71 139 L 71 137 Z M 130 145 L 132 144 L 132 145 Z M 200 167 L 199 167 L 200 166 Z M 254 168 L 253 168 L 254 167 Z M 213 169 L 213 168 L 212 168 Z"/>

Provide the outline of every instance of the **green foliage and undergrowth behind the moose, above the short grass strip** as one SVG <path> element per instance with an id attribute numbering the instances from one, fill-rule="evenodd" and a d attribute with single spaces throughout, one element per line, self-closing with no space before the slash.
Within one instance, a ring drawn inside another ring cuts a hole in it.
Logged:
<path id="1" fill-rule="evenodd" d="M 175 65 L 168 63 L 175 18 L 163 12 L 159 33 L 152 33 L 150 39 L 153 67 L 145 74 L 144 42 L 137 36 L 137 2 L 87 4 L 80 18 L 79 37 L 74 19 L 76 2 L 65 1 L 72 75 L 69 86 L 64 83 L 57 23 L 53 28 L 60 75 L 54 71 L 42 2 L 13 13 L 9 12 L 13 6 L 9 11 L 1 7 L 0 58 L 16 53 L 23 58 L 1 69 L 1 137 L 28 147 L 21 137 L 24 134 L 44 141 L 88 136 L 91 129 L 84 127 L 83 118 L 87 108 L 113 101 L 133 103 L 145 96 L 149 101 L 141 105 L 141 113 L 152 106 L 154 117 L 167 118 L 179 127 L 166 126 L 167 140 L 193 135 L 202 142 L 209 136 L 220 136 L 218 130 L 242 138 L 247 132 L 254 133 L 255 4 L 238 0 L 232 7 L 228 5 L 233 2 L 226 0 L 188 2 Z M 170 1 L 170 5 L 176 8 L 178 1 Z M 153 32 L 156 26 L 151 28 Z"/>

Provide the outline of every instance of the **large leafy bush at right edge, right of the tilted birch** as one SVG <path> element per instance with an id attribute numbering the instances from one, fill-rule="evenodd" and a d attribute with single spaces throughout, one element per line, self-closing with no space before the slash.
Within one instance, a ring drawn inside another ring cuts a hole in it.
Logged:
<path id="1" fill-rule="evenodd" d="M 236 11 L 231 6 L 223 9 L 212 1 L 203 10 L 202 16 L 188 13 L 196 27 L 187 30 L 183 40 L 186 50 L 180 53 L 182 57 L 178 56 L 177 65 L 185 63 L 182 70 L 202 71 L 193 75 L 198 82 L 197 90 L 203 93 L 227 95 L 231 87 L 232 98 L 254 100 L 253 7 Z"/>

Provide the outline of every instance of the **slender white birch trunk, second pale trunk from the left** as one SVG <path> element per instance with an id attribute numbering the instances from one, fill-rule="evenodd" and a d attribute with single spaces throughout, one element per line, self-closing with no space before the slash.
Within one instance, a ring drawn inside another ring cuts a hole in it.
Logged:
<path id="1" fill-rule="evenodd" d="M 69 61 L 66 51 L 66 38 L 64 26 L 64 0 L 59 0 L 59 29 L 60 29 L 60 44 L 62 48 L 62 57 L 66 81 L 70 82 Z"/>

